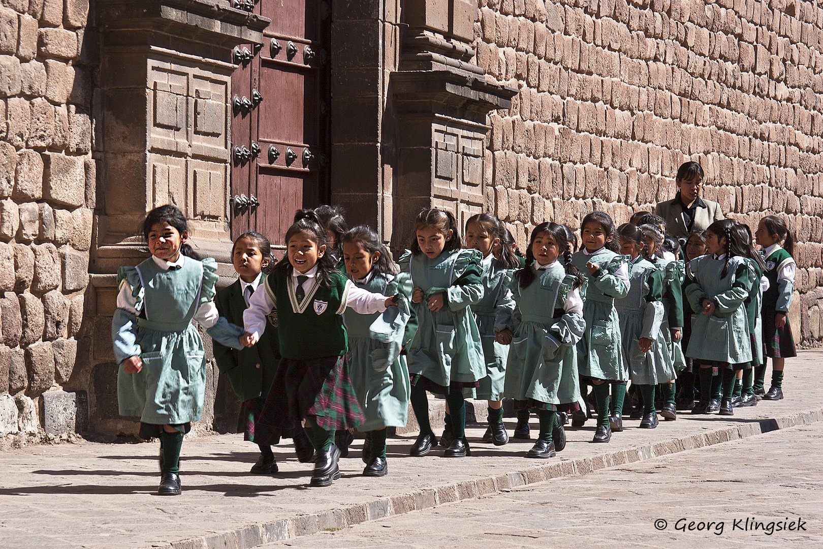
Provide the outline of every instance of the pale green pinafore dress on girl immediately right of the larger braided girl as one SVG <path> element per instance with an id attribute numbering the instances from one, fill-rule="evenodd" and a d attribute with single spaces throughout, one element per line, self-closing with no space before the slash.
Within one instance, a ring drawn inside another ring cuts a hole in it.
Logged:
<path id="1" fill-rule="evenodd" d="M 614 305 L 615 299 L 621 299 L 629 292 L 629 285 L 614 274 L 628 258 L 606 248 L 591 255 L 580 250 L 572 256 L 572 263 L 586 277 L 580 288 L 586 319 L 586 335 L 577 347 L 581 375 L 610 381 L 629 379 L 621 352 L 620 319 Z M 594 276 L 588 273 L 586 264 L 589 262 L 600 266 Z"/>

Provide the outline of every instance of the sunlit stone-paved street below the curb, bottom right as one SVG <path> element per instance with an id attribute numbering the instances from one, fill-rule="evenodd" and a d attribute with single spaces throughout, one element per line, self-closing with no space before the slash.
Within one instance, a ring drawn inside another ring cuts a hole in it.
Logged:
<path id="1" fill-rule="evenodd" d="M 263 547 L 823 547 L 821 454 L 816 422 Z"/>

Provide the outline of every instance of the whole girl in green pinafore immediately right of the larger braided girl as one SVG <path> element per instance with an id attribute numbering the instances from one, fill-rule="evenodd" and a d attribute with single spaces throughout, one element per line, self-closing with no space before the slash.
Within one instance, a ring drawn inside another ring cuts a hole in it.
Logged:
<path id="1" fill-rule="evenodd" d="M 629 292 L 629 267 L 625 255 L 609 248 L 616 248 L 617 244 L 615 226 L 607 213 L 589 213 L 580 227 L 583 247 L 572 258 L 574 266 L 586 278 L 580 290 L 586 334 L 578 343 L 578 367 L 581 375 L 593 380 L 597 402 L 597 430 L 593 441 L 608 442 L 611 440 L 609 414 L 623 409 L 625 383 L 629 379 L 621 352 L 620 319 L 614 306 L 614 300 Z"/>

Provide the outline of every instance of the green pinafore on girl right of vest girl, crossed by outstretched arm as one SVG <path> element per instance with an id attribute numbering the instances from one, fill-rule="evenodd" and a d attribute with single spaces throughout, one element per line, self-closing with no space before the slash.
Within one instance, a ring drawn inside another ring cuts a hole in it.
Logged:
<path id="1" fill-rule="evenodd" d="M 374 274 L 365 283 L 352 282 L 366 291 L 387 296 L 397 295 L 398 292 L 404 295 L 410 293 L 410 288 L 400 288 L 401 283 L 392 275 Z M 357 429 L 364 432 L 384 427 L 405 427 L 408 417 L 411 387 L 406 357 L 398 356 L 392 364 L 388 364 L 384 359 L 388 354 L 387 344 L 370 334 L 372 323 L 382 314 L 359 314 L 348 308 L 343 313 L 349 337 L 351 386 L 363 406 L 365 416 L 365 421 Z M 402 332 L 398 335 L 402 338 Z"/>

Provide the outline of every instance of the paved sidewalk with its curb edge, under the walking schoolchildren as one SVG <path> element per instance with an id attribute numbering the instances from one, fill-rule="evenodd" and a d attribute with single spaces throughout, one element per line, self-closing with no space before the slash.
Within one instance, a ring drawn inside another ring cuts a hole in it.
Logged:
<path id="1" fill-rule="evenodd" d="M 532 445 L 528 442 L 504 447 L 473 442 L 471 458 L 442 458 L 442 449 L 408 458 L 410 436 L 389 440 L 389 475 L 370 479 L 360 475 L 357 443 L 351 457 L 341 461 L 342 479 L 329 488 L 307 486 L 311 467 L 296 461 L 291 446 L 276 449 L 277 476 L 249 475 L 256 447 L 242 435 L 187 440 L 184 495 L 165 498 L 155 495 L 154 443 L 30 446 L 0 454 L 0 547 L 254 547 L 808 424 L 823 420 L 823 387 L 802 380 L 816 379 L 821 361 L 821 352 L 787 361 L 783 401 L 737 408 L 730 418 L 682 414 L 656 430 L 640 430 L 639 421 L 628 420 L 610 444 L 590 442 L 594 428 L 589 421 L 582 429 L 568 429 L 565 451 L 546 461 L 523 458 Z M 483 430 L 470 429 L 470 440 L 479 441 Z"/>

